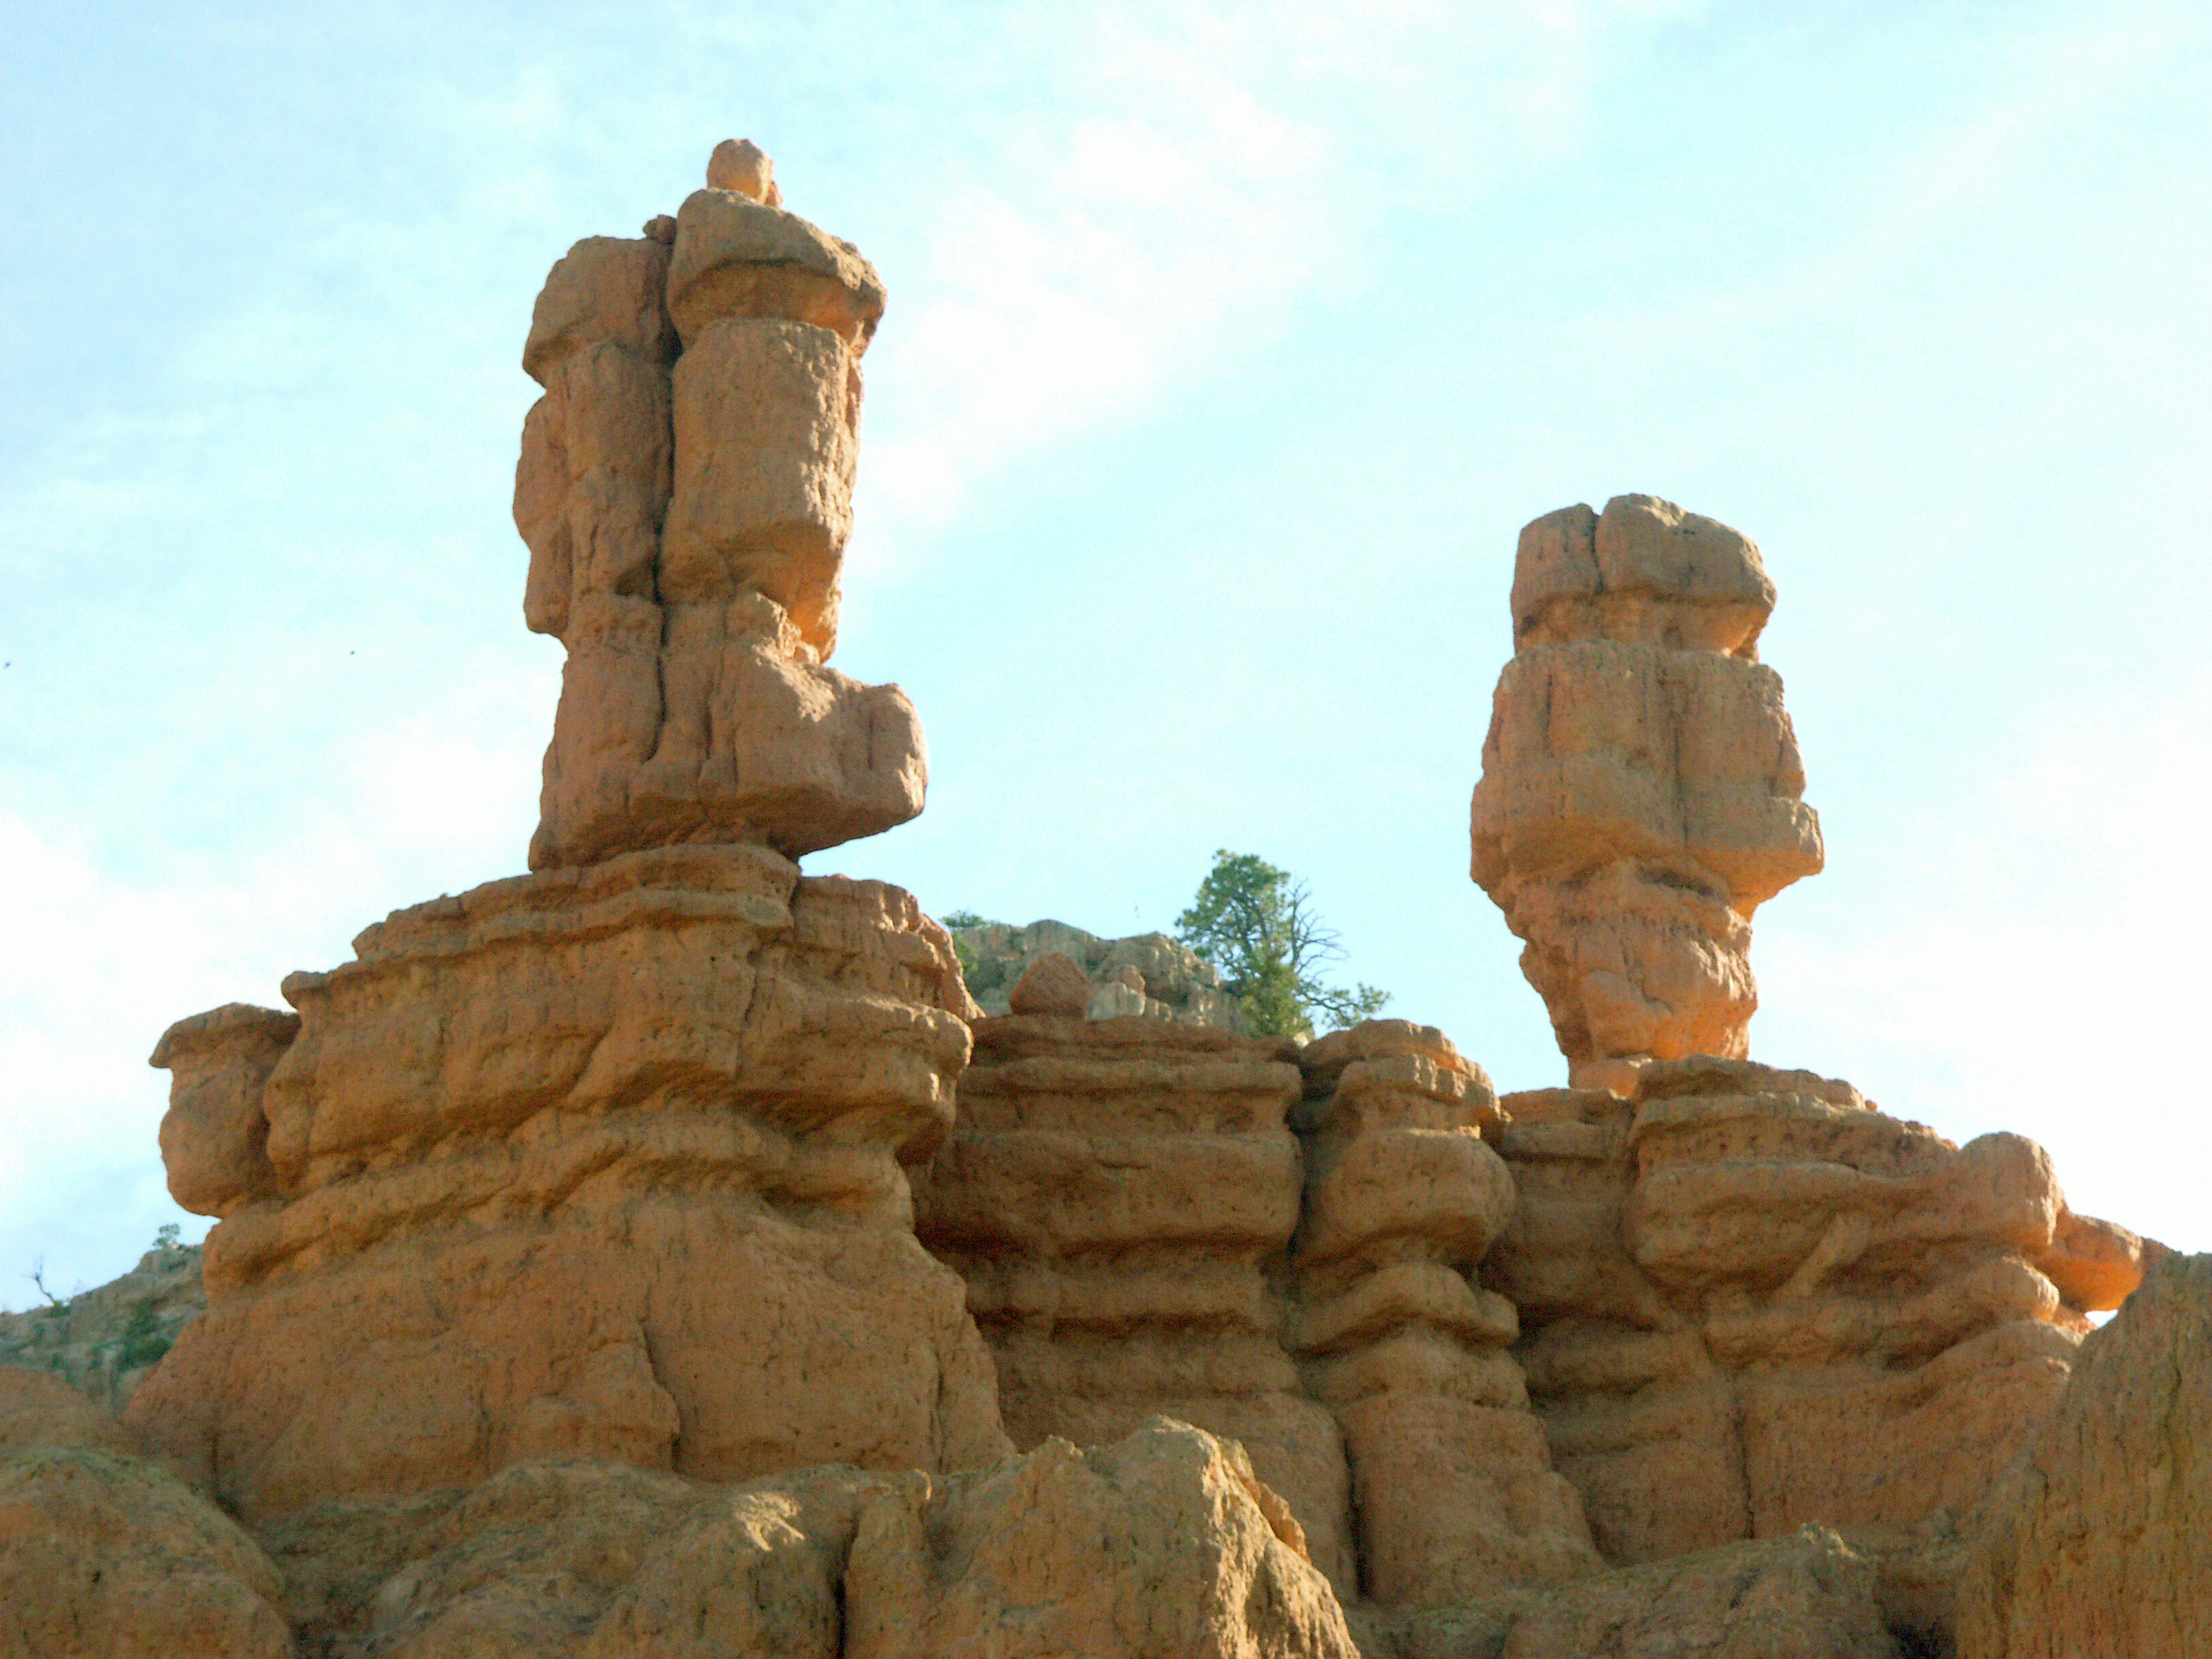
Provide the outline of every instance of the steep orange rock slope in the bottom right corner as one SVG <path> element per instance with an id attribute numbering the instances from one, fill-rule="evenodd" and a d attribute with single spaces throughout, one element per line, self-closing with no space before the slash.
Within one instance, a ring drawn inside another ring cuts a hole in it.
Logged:
<path id="1" fill-rule="evenodd" d="M 2212 1652 L 2212 1256 L 2166 1256 L 2081 1345 L 1989 1495 L 1962 1659 Z"/>

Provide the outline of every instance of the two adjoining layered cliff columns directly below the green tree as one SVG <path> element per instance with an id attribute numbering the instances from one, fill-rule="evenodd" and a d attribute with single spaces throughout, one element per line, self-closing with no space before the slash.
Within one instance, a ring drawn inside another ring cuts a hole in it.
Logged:
<path id="1" fill-rule="evenodd" d="M 975 1024 L 918 1183 L 1015 1444 L 1150 1413 L 1234 1436 L 1345 1595 L 1595 1571 L 1504 1354 L 1513 1310 L 1469 1283 L 1513 1201 L 1489 1079 L 1402 1020 L 1301 1051 L 1079 1011 Z"/>

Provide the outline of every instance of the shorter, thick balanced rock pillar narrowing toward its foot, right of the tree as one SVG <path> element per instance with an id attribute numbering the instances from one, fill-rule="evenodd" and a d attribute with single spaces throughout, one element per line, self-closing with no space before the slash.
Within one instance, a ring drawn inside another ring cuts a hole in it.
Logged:
<path id="1" fill-rule="evenodd" d="M 1652 495 L 1535 520 L 1473 799 L 1473 876 L 1577 1086 L 1743 1057 L 1752 911 L 1820 869 L 1759 549 Z"/>

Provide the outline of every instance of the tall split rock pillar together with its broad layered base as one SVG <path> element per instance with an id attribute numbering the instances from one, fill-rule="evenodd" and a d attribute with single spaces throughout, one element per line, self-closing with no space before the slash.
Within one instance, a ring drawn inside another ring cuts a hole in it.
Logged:
<path id="1" fill-rule="evenodd" d="M 748 166 L 577 243 L 531 321 L 526 613 L 571 646 L 538 874 L 155 1051 L 170 1190 L 219 1223 L 131 1420 L 241 1515 L 1006 1451 L 900 1175 L 969 1053 L 951 940 L 792 863 L 920 807 L 905 697 L 821 668 L 883 290 Z"/>

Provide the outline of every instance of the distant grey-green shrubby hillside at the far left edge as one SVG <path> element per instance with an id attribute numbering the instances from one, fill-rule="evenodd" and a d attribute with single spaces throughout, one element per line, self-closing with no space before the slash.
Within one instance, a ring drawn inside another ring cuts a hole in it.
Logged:
<path id="1" fill-rule="evenodd" d="M 137 1267 L 97 1290 L 0 1314 L 0 1365 L 53 1371 L 108 1411 L 122 1411 L 206 1305 L 199 1245 L 155 1245 Z"/>

